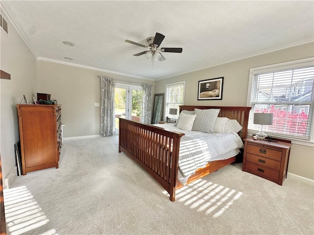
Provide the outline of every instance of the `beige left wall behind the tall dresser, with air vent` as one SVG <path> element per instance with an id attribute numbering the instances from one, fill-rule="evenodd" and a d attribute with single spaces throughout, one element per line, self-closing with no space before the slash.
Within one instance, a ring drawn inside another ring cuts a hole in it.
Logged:
<path id="1" fill-rule="evenodd" d="M 0 68 L 11 74 L 11 80 L 0 79 L 0 151 L 5 178 L 15 167 L 14 143 L 20 140 L 16 104 L 23 94 L 30 102 L 36 92 L 36 59 L 2 9 L 1 14 L 8 22 L 8 35 L 0 30 Z"/>

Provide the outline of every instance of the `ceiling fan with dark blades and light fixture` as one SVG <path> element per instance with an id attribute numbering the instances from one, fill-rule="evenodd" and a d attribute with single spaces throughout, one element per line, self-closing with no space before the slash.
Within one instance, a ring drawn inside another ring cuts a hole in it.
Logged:
<path id="1" fill-rule="evenodd" d="M 166 58 L 160 53 L 160 52 L 175 52 L 175 53 L 181 53 L 182 48 L 180 47 L 162 47 L 159 48 L 160 44 L 162 43 L 163 39 L 165 38 L 164 35 L 161 33 L 156 33 L 155 37 L 149 37 L 146 39 L 148 46 L 145 46 L 143 44 L 135 43 L 130 40 L 126 40 L 125 42 L 134 44 L 139 47 L 145 47 L 148 50 L 139 52 L 137 54 L 134 54 L 134 56 L 140 56 L 144 55 L 147 59 L 152 59 L 152 62 L 155 62 L 157 60 L 164 61 Z"/>

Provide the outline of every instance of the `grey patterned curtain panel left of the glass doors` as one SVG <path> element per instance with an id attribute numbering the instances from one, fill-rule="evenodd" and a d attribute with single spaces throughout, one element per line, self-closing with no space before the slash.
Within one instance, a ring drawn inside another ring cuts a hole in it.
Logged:
<path id="1" fill-rule="evenodd" d="M 116 133 L 115 127 L 115 102 L 114 102 L 114 88 L 115 78 L 100 77 L 101 78 L 101 136 L 113 136 Z"/>

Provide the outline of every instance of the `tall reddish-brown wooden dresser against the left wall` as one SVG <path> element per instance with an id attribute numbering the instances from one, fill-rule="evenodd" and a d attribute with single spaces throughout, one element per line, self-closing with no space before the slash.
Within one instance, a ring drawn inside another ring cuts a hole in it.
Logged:
<path id="1" fill-rule="evenodd" d="M 60 105 L 16 105 L 19 117 L 23 175 L 58 168 L 61 149 Z"/>

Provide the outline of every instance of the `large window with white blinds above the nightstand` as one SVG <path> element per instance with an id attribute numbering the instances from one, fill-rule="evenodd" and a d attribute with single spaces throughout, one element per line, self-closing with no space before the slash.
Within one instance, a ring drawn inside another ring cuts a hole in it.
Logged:
<path id="1" fill-rule="evenodd" d="M 314 58 L 265 66 L 250 70 L 248 105 L 254 113 L 273 113 L 273 125 L 263 126 L 269 135 L 299 140 L 313 140 Z M 313 130 L 312 130 L 313 131 Z"/>

